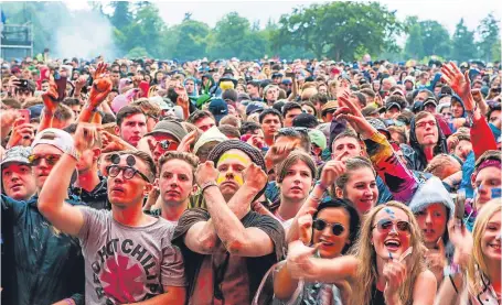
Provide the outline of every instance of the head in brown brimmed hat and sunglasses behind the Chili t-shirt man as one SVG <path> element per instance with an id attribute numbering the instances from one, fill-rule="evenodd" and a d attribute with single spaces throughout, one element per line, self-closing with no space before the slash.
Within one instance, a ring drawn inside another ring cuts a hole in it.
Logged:
<path id="1" fill-rule="evenodd" d="M 165 152 L 175 151 L 186 134 L 180 122 L 170 120 L 158 122 L 150 133 L 145 134 L 150 138 L 148 142 L 153 162 L 158 164 Z"/>

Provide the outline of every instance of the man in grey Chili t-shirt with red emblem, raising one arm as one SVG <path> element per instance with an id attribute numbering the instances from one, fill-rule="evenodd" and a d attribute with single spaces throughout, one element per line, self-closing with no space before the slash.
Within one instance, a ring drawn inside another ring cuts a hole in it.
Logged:
<path id="1" fill-rule="evenodd" d="M 96 139 L 95 127 L 79 124 L 73 151 L 86 151 Z M 78 237 L 85 257 L 86 302 L 184 304 L 183 261 L 170 242 L 174 227 L 141 210 L 143 197 L 153 187 L 153 160 L 141 151 L 114 154 L 107 166 L 111 211 L 96 210 L 64 203 L 64 186 L 71 183 L 78 153 L 61 156 L 41 192 L 39 208 L 58 230 Z"/>

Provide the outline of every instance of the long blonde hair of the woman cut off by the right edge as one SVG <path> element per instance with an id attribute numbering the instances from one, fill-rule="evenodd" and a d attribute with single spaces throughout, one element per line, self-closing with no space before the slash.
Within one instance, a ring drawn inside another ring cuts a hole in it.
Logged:
<path id="1" fill-rule="evenodd" d="M 487 276 L 488 265 L 482 252 L 482 236 L 487 230 L 487 225 L 490 218 L 495 213 L 501 213 L 502 199 L 495 198 L 483 206 L 480 214 L 476 218 L 474 228 L 472 230 L 472 255 L 467 265 L 467 287 L 470 295 L 478 295 L 483 291 L 482 282 L 479 275 Z M 480 272 L 480 274 L 478 274 Z"/>

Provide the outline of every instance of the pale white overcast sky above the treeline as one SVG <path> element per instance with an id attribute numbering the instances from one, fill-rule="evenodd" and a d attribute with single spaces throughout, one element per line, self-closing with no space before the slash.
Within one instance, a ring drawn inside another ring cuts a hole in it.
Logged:
<path id="1" fill-rule="evenodd" d="M 86 1 L 65 1 L 72 10 L 87 9 Z M 105 1 L 106 2 L 106 1 Z M 290 13 L 292 8 L 322 3 L 327 1 L 152 1 L 159 7 L 161 17 L 168 25 L 180 23 L 185 12 L 192 18 L 206 22 L 210 26 L 226 13 L 236 11 L 249 21 L 260 21 L 264 25 L 271 18 L 277 21 L 281 14 Z M 467 26 L 474 30 L 479 21 L 493 12 L 502 19 L 500 0 L 381 0 L 389 10 L 396 10 L 397 17 L 404 20 L 407 15 L 418 15 L 420 20 L 431 19 L 444 24 L 450 33 L 460 18 Z M 498 4 L 499 3 L 499 4 Z"/>

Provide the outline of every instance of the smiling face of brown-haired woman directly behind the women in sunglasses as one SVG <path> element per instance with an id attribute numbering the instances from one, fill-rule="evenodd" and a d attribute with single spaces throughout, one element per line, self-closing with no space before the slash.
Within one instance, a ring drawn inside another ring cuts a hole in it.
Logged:
<path id="1" fill-rule="evenodd" d="M 351 200 L 363 215 L 370 210 L 378 199 L 375 175 L 369 167 L 352 171 L 343 190 L 343 197 Z"/>

